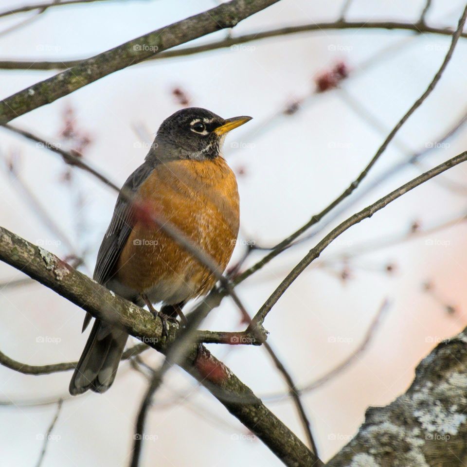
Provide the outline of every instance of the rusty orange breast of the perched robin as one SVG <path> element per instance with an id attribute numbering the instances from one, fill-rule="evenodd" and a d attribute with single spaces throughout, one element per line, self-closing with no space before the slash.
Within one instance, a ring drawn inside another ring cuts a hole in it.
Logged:
<path id="1" fill-rule="evenodd" d="M 225 269 L 238 234 L 239 198 L 234 173 L 223 158 L 161 163 L 139 195 L 158 218 L 180 229 Z M 216 283 L 212 273 L 160 227 L 138 219 L 120 255 L 116 278 L 138 292 L 158 284 L 185 287 L 187 300 Z"/>

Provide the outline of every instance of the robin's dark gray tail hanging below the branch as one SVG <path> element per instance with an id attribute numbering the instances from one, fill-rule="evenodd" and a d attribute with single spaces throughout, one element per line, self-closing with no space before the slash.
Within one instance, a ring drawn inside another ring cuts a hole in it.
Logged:
<path id="1" fill-rule="evenodd" d="M 96 320 L 70 381 L 70 394 L 103 393 L 113 383 L 128 334 Z"/>

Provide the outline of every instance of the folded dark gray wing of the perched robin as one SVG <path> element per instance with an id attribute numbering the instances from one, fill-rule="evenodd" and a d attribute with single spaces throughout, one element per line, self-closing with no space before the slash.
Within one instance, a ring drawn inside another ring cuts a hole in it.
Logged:
<path id="1" fill-rule="evenodd" d="M 144 162 L 126 180 L 122 190 L 136 193 L 140 185 L 146 180 L 148 175 L 154 170 L 154 165 Z M 131 202 L 121 194 L 115 203 L 112 219 L 107 232 L 97 253 L 97 262 L 94 269 L 93 279 L 99 284 L 106 285 L 111 278 L 113 269 L 118 261 L 120 253 L 125 247 L 126 239 L 131 232 Z M 83 331 L 91 320 L 88 313 L 83 323 Z"/>

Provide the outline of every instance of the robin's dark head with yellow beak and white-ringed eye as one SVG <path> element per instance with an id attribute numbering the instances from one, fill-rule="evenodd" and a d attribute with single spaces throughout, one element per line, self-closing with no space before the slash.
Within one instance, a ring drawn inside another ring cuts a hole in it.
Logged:
<path id="1" fill-rule="evenodd" d="M 204 108 L 183 108 L 166 118 L 157 132 L 155 155 L 162 159 L 214 159 L 221 154 L 225 135 L 251 120 L 223 119 Z"/>

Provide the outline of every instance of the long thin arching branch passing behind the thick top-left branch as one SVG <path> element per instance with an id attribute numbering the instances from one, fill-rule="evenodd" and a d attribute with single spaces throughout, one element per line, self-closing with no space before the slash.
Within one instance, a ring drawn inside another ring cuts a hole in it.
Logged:
<path id="1" fill-rule="evenodd" d="M 346 29 L 358 30 L 399 30 L 412 31 L 417 34 L 435 34 L 440 36 L 452 36 L 452 29 L 431 27 L 419 22 L 398 22 L 398 21 L 331 21 L 325 23 L 312 23 L 299 26 L 287 26 L 284 28 L 270 29 L 252 34 L 244 34 L 237 37 L 226 37 L 221 40 L 209 42 L 208 44 L 183 47 L 176 50 L 162 52 L 149 57 L 149 60 L 160 60 L 163 58 L 174 58 L 186 55 L 195 55 L 218 49 L 229 49 L 236 45 L 245 44 L 252 41 L 269 39 L 271 37 L 290 36 L 305 33 L 320 33 L 323 31 L 340 31 Z M 461 37 L 467 37 L 467 33 L 462 33 Z M 0 70 L 64 70 L 72 68 L 83 62 L 85 58 L 75 60 L 0 60 Z M 136 63 L 136 62 L 135 62 Z"/>

